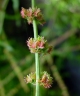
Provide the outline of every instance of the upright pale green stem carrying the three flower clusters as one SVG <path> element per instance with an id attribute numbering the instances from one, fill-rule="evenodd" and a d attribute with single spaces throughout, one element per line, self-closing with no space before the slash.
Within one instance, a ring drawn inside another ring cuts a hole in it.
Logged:
<path id="1" fill-rule="evenodd" d="M 32 0 L 32 8 L 35 8 L 35 0 Z M 33 20 L 33 30 L 34 30 L 34 38 L 38 37 L 38 29 L 36 20 Z M 35 63 L 36 63 L 36 96 L 39 96 L 39 79 L 40 79 L 40 64 L 39 64 L 39 54 L 35 53 Z"/>

